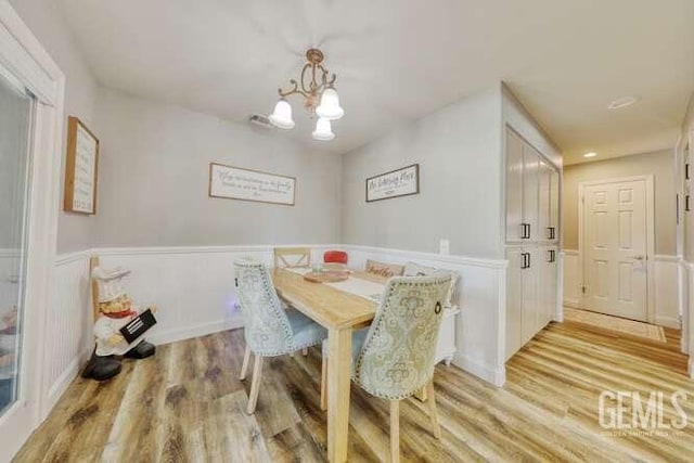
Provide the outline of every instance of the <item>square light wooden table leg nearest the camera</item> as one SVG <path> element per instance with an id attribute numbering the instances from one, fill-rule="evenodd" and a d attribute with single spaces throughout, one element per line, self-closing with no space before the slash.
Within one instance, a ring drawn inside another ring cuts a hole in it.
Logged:
<path id="1" fill-rule="evenodd" d="M 349 433 L 351 329 L 330 330 L 327 347 L 327 459 L 343 463 Z"/>

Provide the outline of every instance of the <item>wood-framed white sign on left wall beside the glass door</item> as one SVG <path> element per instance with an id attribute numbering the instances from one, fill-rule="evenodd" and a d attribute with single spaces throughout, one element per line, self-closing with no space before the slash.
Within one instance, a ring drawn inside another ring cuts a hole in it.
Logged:
<path id="1" fill-rule="evenodd" d="M 67 118 L 63 210 L 97 214 L 99 139 L 77 117 Z"/>

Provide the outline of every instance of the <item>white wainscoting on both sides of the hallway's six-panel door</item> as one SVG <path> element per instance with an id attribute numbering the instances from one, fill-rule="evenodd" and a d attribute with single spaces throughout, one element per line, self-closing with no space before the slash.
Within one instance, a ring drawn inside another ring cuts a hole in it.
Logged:
<path id="1" fill-rule="evenodd" d="M 580 306 L 581 266 L 578 252 L 564 249 L 564 306 Z M 655 323 L 680 327 L 678 294 L 679 259 L 677 256 L 656 255 L 653 259 L 655 274 Z"/>

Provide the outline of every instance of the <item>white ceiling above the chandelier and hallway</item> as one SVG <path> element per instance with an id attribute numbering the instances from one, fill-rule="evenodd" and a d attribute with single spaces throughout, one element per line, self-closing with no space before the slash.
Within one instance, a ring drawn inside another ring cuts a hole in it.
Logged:
<path id="1" fill-rule="evenodd" d="M 296 97 L 278 136 L 331 152 L 504 80 L 567 164 L 599 160 L 673 146 L 694 90 L 692 0 L 60 1 L 102 85 L 230 120 L 270 113 L 320 47 L 337 138 L 312 141 Z"/>

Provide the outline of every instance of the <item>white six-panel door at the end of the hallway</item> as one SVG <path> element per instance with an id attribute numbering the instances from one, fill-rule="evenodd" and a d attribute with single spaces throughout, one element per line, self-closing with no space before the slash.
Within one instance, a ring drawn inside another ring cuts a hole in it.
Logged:
<path id="1" fill-rule="evenodd" d="M 646 179 L 582 191 L 584 308 L 648 321 Z"/>

